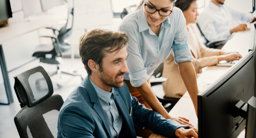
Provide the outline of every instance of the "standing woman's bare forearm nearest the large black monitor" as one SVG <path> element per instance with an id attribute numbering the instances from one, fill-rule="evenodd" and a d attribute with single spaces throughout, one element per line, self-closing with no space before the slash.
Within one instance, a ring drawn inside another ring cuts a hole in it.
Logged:
<path id="1" fill-rule="evenodd" d="M 179 62 L 178 66 L 180 76 L 183 79 L 185 87 L 188 90 L 197 115 L 197 94 L 199 93 L 199 90 L 196 82 L 195 68 L 191 61 Z"/>

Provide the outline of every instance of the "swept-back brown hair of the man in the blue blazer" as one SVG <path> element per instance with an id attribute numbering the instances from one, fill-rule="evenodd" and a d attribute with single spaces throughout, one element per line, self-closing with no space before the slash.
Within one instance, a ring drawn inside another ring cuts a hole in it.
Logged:
<path id="1" fill-rule="evenodd" d="M 127 43 L 127 34 L 120 31 L 94 29 L 84 33 L 79 41 L 79 54 L 87 74 L 91 75 L 91 69 L 88 66 L 89 59 L 99 64 L 100 69 L 102 69 L 102 59 L 105 56 L 105 52 L 119 51 Z"/>

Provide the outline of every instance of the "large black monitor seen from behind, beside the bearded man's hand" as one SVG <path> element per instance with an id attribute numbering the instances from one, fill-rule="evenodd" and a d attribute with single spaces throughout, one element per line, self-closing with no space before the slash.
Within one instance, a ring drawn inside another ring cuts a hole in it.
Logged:
<path id="1" fill-rule="evenodd" d="M 199 138 L 237 138 L 246 127 L 235 105 L 254 95 L 254 61 L 253 50 L 198 95 Z"/>

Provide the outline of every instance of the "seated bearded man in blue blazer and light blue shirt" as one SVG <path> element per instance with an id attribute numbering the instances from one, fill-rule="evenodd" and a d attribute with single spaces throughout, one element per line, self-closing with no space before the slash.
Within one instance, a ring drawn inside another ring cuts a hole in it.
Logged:
<path id="1" fill-rule="evenodd" d="M 80 38 L 79 51 L 88 73 L 60 109 L 58 138 L 136 138 L 134 125 L 154 133 L 198 138 L 196 128 L 165 119 L 132 97 L 123 75 L 128 72 L 126 33 L 95 29 Z"/>

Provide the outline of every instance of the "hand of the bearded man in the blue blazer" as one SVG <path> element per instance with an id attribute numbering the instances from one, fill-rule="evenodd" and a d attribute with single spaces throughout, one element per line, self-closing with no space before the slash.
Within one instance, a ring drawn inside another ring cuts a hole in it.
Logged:
<path id="1" fill-rule="evenodd" d="M 198 138 L 198 129 L 185 129 L 181 127 L 175 130 L 175 135 L 179 138 Z"/>

